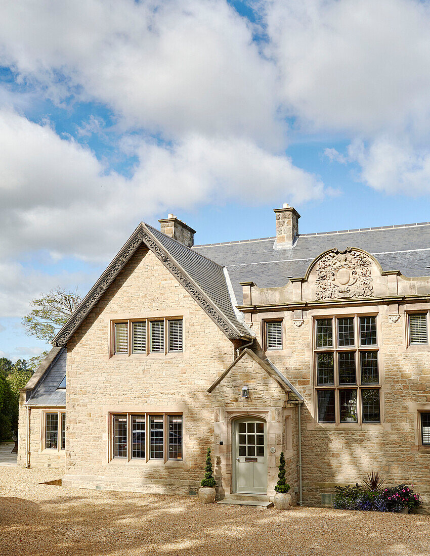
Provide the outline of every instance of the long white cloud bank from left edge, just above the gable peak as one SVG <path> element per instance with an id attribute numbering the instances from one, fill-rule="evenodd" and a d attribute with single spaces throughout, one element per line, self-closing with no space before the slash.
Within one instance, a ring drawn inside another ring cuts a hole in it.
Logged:
<path id="1" fill-rule="evenodd" d="M 106 260 L 137 222 L 160 211 L 323 194 L 318 177 L 240 138 L 191 135 L 170 148 L 140 140 L 130 179 L 106 173 L 88 148 L 8 110 L 0 110 L 0 143 L 3 257 L 46 249 Z"/>

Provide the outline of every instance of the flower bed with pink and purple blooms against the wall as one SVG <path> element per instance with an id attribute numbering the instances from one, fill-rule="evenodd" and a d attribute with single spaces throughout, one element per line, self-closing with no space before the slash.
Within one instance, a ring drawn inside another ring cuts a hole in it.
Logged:
<path id="1" fill-rule="evenodd" d="M 365 489 L 358 483 L 355 486 L 338 486 L 333 508 L 395 513 L 408 508 L 410 511 L 421 504 L 421 497 L 412 488 L 413 485 L 404 484 L 380 490 Z"/>

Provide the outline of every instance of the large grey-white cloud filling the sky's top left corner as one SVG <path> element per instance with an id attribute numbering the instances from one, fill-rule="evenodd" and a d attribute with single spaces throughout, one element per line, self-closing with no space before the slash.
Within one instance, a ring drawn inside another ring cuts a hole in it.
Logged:
<path id="1" fill-rule="evenodd" d="M 0 37 L 2 63 L 58 100 L 80 93 L 171 136 L 279 145 L 275 67 L 224 0 L 17 0 L 0 8 Z"/>

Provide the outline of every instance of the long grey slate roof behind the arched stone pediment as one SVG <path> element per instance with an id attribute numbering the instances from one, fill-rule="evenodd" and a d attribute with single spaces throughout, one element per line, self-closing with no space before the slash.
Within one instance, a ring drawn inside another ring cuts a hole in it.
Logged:
<path id="1" fill-rule="evenodd" d="M 299 235 L 290 249 L 274 249 L 276 237 L 195 245 L 192 250 L 225 266 L 240 305 L 240 282 L 279 287 L 290 277 L 305 275 L 322 252 L 337 247 L 360 247 L 378 260 L 383 270 L 400 270 L 408 277 L 430 275 L 430 222 Z"/>

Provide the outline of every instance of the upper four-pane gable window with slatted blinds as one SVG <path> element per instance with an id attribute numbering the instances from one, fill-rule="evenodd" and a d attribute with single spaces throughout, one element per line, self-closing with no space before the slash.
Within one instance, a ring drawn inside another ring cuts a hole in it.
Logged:
<path id="1" fill-rule="evenodd" d="M 182 317 L 112 322 L 112 355 L 181 353 L 184 350 Z"/>

